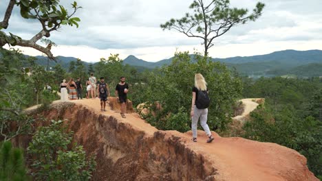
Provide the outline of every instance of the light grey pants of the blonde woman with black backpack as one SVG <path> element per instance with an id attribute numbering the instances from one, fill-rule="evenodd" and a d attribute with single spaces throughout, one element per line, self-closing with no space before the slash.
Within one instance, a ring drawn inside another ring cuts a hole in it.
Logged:
<path id="1" fill-rule="evenodd" d="M 193 138 L 197 138 L 197 124 L 198 119 L 200 118 L 200 124 L 202 125 L 202 128 L 204 128 L 204 131 L 209 136 L 211 135 L 211 132 L 209 130 L 209 127 L 207 125 L 207 117 L 208 117 L 208 108 L 206 109 L 198 109 L 196 106 L 193 109 L 193 117 L 192 117 L 192 123 L 191 128 L 193 131 Z"/>

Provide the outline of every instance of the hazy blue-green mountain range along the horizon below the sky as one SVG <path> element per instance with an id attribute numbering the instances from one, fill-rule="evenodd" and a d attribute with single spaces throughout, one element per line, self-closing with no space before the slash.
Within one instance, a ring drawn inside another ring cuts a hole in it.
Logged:
<path id="1" fill-rule="evenodd" d="M 193 57 L 191 55 L 192 61 L 194 61 Z M 36 58 L 36 62 L 45 67 L 47 63 L 49 63 L 49 67 L 54 67 L 56 64 L 54 61 L 48 62 L 47 57 L 44 56 L 36 56 Z M 58 64 L 68 69 L 69 63 L 77 59 L 74 57 L 58 56 L 56 60 Z M 144 71 L 171 64 L 172 60 L 173 58 L 160 60 L 158 62 L 147 62 L 135 56 L 128 56 L 123 60 L 123 64 L 129 64 L 130 66 L 136 67 L 138 71 Z M 293 74 L 299 77 L 322 76 L 321 50 L 284 50 L 260 56 L 213 58 L 213 61 L 223 62 L 227 67 L 234 67 L 241 75 L 250 77 L 272 77 L 286 74 Z M 84 64 L 85 67 L 88 67 L 91 63 L 84 62 Z"/>

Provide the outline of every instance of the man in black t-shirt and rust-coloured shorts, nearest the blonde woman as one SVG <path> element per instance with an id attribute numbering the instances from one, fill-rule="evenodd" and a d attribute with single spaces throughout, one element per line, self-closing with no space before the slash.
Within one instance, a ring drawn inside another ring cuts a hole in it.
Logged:
<path id="1" fill-rule="evenodd" d="M 125 112 L 127 112 L 127 93 L 129 92 L 129 85 L 125 83 L 125 77 L 120 77 L 120 83 L 116 85 L 115 95 L 118 97 L 118 101 L 121 104 L 121 116 L 125 118 Z"/>

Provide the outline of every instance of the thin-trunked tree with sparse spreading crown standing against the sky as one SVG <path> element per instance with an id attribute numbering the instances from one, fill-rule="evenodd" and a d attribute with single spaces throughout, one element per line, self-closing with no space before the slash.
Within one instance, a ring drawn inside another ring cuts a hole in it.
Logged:
<path id="1" fill-rule="evenodd" d="M 194 14 L 186 13 L 181 19 L 171 19 L 160 25 L 164 29 L 175 29 L 188 37 L 202 38 L 204 56 L 208 55 L 208 49 L 213 47 L 213 39 L 222 36 L 228 30 L 247 21 L 255 21 L 261 16 L 264 3 L 257 3 L 251 14 L 241 8 L 230 8 L 229 0 L 212 0 L 206 4 L 205 0 L 195 0 L 190 5 Z"/>

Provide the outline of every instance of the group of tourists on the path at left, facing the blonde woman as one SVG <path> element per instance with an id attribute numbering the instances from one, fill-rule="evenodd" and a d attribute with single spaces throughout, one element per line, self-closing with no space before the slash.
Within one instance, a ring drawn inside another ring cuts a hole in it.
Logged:
<path id="1" fill-rule="evenodd" d="M 69 89 L 69 93 L 67 92 Z M 91 76 L 86 81 L 86 98 L 90 99 L 100 99 L 100 110 L 106 110 L 106 101 L 107 97 L 110 97 L 109 86 L 105 82 L 104 77 L 100 77 L 100 80 L 97 81 L 94 77 L 94 73 L 91 73 Z M 77 81 L 74 82 L 73 78 L 69 78 L 69 82 L 63 80 L 61 83 L 61 101 L 83 99 L 83 85 L 81 79 L 77 78 Z M 125 83 L 125 77 L 120 77 L 120 82 L 116 85 L 115 95 L 118 99 L 118 102 L 121 104 L 121 116 L 125 117 L 126 112 L 126 103 L 127 103 L 127 93 L 129 92 L 129 85 Z M 68 96 L 69 95 L 69 96 Z"/>

